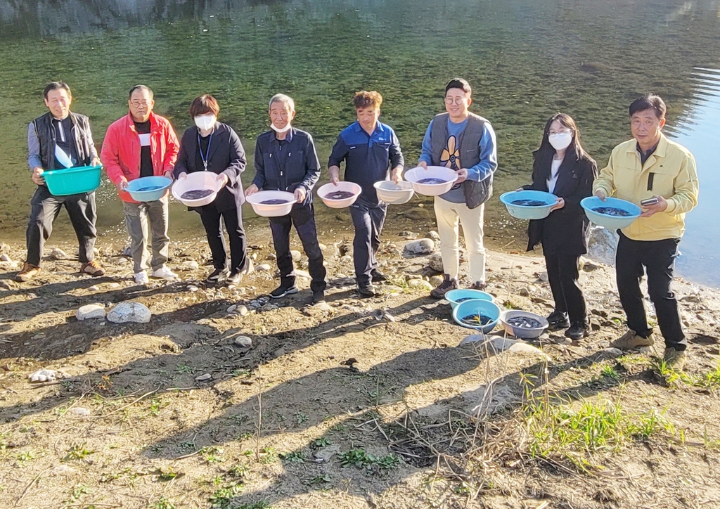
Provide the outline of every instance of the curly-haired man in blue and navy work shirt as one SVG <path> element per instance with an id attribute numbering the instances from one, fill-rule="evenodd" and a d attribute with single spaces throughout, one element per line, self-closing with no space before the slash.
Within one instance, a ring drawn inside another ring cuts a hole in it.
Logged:
<path id="1" fill-rule="evenodd" d="M 377 270 L 377 248 L 385 222 L 387 204 L 379 201 L 373 184 L 390 179 L 397 183 L 405 161 L 392 127 L 378 122 L 382 96 L 376 91 L 359 91 L 353 97 L 357 122 L 346 127 L 338 136 L 330 154 L 328 169 L 330 181 L 338 184 L 340 163 L 345 161 L 345 180 L 359 184 L 362 192 L 350 207 L 355 227 L 353 258 L 358 292 L 362 297 L 373 297 L 372 281 L 387 277 Z"/>

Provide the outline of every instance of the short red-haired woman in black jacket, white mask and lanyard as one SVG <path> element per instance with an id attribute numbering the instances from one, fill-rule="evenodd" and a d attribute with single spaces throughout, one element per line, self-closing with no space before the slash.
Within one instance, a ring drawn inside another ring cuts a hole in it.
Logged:
<path id="1" fill-rule="evenodd" d="M 222 180 L 222 189 L 212 203 L 193 208 L 199 212 L 202 219 L 207 243 L 212 252 L 212 265 L 215 267 L 212 274 L 207 276 L 207 281 L 217 283 L 226 278 L 228 284 L 238 284 L 247 264 L 247 241 L 242 212 L 245 195 L 240 181 L 246 158 L 235 130 L 229 125 L 217 122 L 219 112 L 220 106 L 215 97 L 204 94 L 194 99 L 190 106 L 190 115 L 195 126 L 186 130 L 180 140 L 174 175 L 176 179 L 183 179 L 194 171 L 212 171 L 217 174 L 217 180 Z M 229 267 L 221 217 L 230 238 Z"/>

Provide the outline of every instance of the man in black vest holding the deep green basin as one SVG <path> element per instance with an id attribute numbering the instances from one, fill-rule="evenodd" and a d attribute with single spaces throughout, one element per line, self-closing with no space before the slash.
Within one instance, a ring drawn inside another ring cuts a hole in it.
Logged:
<path id="1" fill-rule="evenodd" d="M 27 260 L 15 276 L 16 281 L 29 281 L 40 273 L 42 246 L 53 231 L 53 220 L 65 206 L 80 244 L 80 271 L 102 276 L 105 271 L 95 260 L 97 210 L 95 192 L 56 197 L 50 194 L 42 173 L 55 168 L 99 165 L 100 160 L 92 140 L 88 117 L 70 111 L 73 101 L 70 87 L 54 81 L 45 87 L 45 106 L 48 112 L 30 122 L 27 129 L 27 163 L 32 181 L 37 184 L 30 200 L 30 221 L 27 224 Z"/>

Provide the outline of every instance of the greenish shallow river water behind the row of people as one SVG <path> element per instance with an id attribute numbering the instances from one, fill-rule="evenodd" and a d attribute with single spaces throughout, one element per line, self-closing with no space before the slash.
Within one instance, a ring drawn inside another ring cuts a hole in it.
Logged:
<path id="1" fill-rule="evenodd" d="M 531 150 L 551 114 L 575 117 L 603 166 L 629 138 L 629 102 L 647 91 L 663 96 L 667 132 L 693 150 L 701 179 L 678 267 L 719 286 L 719 69 L 718 0 L 0 0 L 0 236 L 24 236 L 34 187 L 27 122 L 45 112 L 49 81 L 71 85 L 73 109 L 89 115 L 98 146 L 127 112 L 130 86 L 150 86 L 156 111 L 179 133 L 191 125 L 192 99 L 211 93 L 250 162 L 268 125 L 267 101 L 282 91 L 294 97 L 294 123 L 315 137 L 323 165 L 354 120 L 354 91 L 377 89 L 382 120 L 395 127 L 410 166 L 428 121 L 444 109 L 444 84 L 464 76 L 474 87 L 472 110 L 498 134 L 496 194 L 529 181 Z M 249 165 L 244 180 L 252 174 Z M 107 181 L 99 202 L 99 230 L 122 238 Z M 420 202 L 431 205 L 416 198 L 408 207 Z M 201 233 L 182 208 L 173 206 L 171 235 Z M 347 230 L 347 215 L 317 210 L 322 233 Z M 388 228 L 418 228 L 395 214 L 402 210 L 392 208 Z M 523 222 L 510 220 L 497 199 L 487 217 L 492 243 L 523 250 Z M 264 222 L 249 209 L 248 221 Z M 66 218 L 57 223 L 53 237 L 68 238 Z"/>

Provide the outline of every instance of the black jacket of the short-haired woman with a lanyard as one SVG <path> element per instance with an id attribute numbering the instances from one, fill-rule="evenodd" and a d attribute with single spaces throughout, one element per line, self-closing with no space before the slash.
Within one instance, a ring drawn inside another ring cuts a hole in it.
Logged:
<path id="1" fill-rule="evenodd" d="M 197 145 L 197 127 L 190 127 L 182 135 L 180 151 L 175 163 L 173 174 L 177 178 L 181 173 L 191 174 L 194 171 L 204 171 L 199 161 Z M 212 133 L 210 154 L 208 155 L 207 171 L 228 176 L 228 185 L 220 189 L 215 201 L 204 207 L 215 207 L 218 212 L 242 207 L 245 203 L 243 183 L 240 174 L 247 164 L 245 149 L 240 143 L 238 133 L 229 125 L 215 122 L 215 132 Z M 204 208 L 191 207 L 191 208 Z"/>

